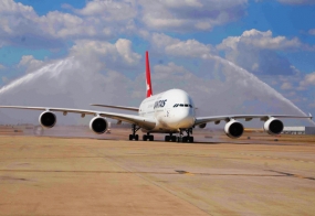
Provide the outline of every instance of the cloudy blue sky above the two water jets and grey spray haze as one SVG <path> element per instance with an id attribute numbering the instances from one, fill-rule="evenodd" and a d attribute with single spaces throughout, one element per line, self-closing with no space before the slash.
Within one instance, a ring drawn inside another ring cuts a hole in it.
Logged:
<path id="1" fill-rule="evenodd" d="M 149 50 L 154 72 L 167 66 L 225 80 L 207 74 L 213 65 L 204 60 L 220 56 L 313 111 L 314 11 L 313 0 L 3 0 L 0 83 L 70 56 L 133 82 Z"/>

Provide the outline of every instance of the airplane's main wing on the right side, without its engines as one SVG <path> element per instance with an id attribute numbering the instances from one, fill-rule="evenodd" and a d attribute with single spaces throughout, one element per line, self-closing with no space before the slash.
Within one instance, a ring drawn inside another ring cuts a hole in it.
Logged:
<path id="1" fill-rule="evenodd" d="M 312 119 L 312 115 L 309 116 L 290 116 L 290 115 L 230 115 L 230 116 L 213 116 L 213 117 L 198 117 L 196 118 L 195 126 L 207 123 L 214 121 L 216 125 L 220 123 L 220 121 L 229 121 L 230 119 L 245 119 L 245 121 L 250 121 L 252 119 L 261 119 L 262 121 L 265 121 L 270 119 L 271 117 L 274 118 L 308 118 Z"/>

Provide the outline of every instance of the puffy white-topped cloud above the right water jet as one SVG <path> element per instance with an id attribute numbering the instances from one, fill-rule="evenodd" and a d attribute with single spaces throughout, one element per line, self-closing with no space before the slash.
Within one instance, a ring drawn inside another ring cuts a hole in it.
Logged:
<path id="1" fill-rule="evenodd" d="M 296 52 L 312 50 L 298 39 L 273 36 L 271 31 L 244 31 L 240 36 L 229 36 L 217 45 L 225 57 L 255 74 L 294 75 L 296 69 L 279 51 Z"/>

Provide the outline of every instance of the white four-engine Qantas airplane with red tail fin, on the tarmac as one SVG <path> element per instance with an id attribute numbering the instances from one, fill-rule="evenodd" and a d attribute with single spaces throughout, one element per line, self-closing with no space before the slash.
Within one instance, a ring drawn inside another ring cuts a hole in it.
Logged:
<path id="1" fill-rule="evenodd" d="M 196 107 L 192 98 L 181 89 L 170 89 L 157 95 L 153 94 L 149 55 L 146 52 L 146 85 L 147 96 L 141 101 L 139 107 L 125 107 L 113 105 L 92 104 L 91 106 L 115 108 L 122 110 L 136 111 L 138 115 L 85 110 L 85 109 L 70 109 L 70 108 L 51 108 L 51 107 L 25 107 L 25 106 L 0 106 L 0 108 L 14 109 L 31 109 L 42 110 L 39 117 L 40 125 L 44 128 L 53 128 L 56 123 L 56 116 L 54 112 L 80 114 L 82 118 L 86 115 L 94 116 L 90 121 L 90 129 L 97 134 L 105 133 L 108 129 L 107 118 L 117 120 L 117 123 L 132 123 L 133 133 L 129 134 L 129 140 L 139 140 L 136 134 L 139 129 L 145 133 L 144 141 L 154 141 L 151 133 L 166 133 L 165 141 L 171 142 L 193 142 L 192 130 L 196 127 L 206 128 L 207 123 L 214 122 L 216 125 L 225 121 L 224 132 L 232 139 L 240 138 L 243 134 L 244 127 L 238 119 L 250 121 L 252 119 L 260 119 L 264 121 L 263 129 L 269 134 L 280 134 L 284 125 L 279 118 L 305 118 L 312 119 L 309 116 L 290 116 L 290 115 L 227 115 L 227 116 L 210 116 L 197 117 Z M 186 133 L 186 136 L 183 136 Z M 176 136 L 178 134 L 178 136 Z"/>

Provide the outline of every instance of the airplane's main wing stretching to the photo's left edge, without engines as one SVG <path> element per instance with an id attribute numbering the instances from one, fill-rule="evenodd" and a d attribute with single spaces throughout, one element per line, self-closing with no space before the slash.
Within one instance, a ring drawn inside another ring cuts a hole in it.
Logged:
<path id="1" fill-rule="evenodd" d="M 24 106 L 0 106 L 0 108 L 14 108 L 14 109 L 31 109 L 31 110 L 42 110 L 42 111 L 60 111 L 63 115 L 67 112 L 81 114 L 83 117 L 85 115 L 107 117 L 111 119 L 116 119 L 118 121 L 125 121 L 129 123 L 135 123 L 145 129 L 153 129 L 156 125 L 155 119 L 140 117 L 136 115 L 126 115 L 117 112 L 107 111 L 96 111 L 96 110 L 85 110 L 85 109 L 67 109 L 67 108 L 48 108 L 48 107 L 24 107 Z"/>

